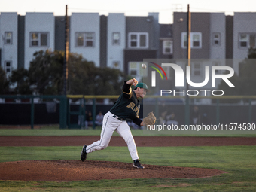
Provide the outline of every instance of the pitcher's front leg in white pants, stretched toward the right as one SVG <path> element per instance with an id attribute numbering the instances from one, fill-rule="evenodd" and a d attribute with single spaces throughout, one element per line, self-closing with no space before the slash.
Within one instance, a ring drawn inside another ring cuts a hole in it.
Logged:
<path id="1" fill-rule="evenodd" d="M 130 127 L 128 126 L 126 121 L 123 121 L 120 124 L 120 126 L 118 126 L 116 131 L 121 137 L 123 137 L 124 141 L 126 142 L 126 144 L 128 146 L 128 150 L 130 152 L 130 156 L 132 157 L 132 159 L 138 160 L 139 156 L 138 156 L 137 147 L 136 147 L 135 141 L 133 139 L 133 135 L 131 133 Z"/>

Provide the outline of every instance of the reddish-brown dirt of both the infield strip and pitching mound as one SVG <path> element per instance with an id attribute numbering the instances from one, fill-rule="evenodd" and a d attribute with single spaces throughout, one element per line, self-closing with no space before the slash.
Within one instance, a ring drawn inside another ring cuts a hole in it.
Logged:
<path id="1" fill-rule="evenodd" d="M 0 146 L 82 146 L 99 136 L 0 136 Z M 255 145 L 256 138 L 229 137 L 134 137 L 137 146 L 221 146 Z M 109 146 L 126 146 L 113 136 Z M 216 169 L 144 165 L 133 163 L 80 160 L 29 160 L 0 163 L 0 180 L 23 181 L 85 181 L 123 178 L 203 178 L 220 175 Z"/>

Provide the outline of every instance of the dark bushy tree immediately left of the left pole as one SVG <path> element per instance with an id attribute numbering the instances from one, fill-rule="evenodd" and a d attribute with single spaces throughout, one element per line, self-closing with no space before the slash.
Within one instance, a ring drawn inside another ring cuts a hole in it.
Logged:
<path id="1" fill-rule="evenodd" d="M 17 83 L 14 93 L 54 95 L 62 90 L 63 53 L 40 50 L 35 52 L 29 70 L 17 69 L 12 72 L 11 83 Z"/>

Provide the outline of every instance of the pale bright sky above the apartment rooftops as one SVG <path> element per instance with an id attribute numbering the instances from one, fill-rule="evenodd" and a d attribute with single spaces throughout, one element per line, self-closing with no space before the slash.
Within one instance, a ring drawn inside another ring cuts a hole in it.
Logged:
<path id="1" fill-rule="evenodd" d="M 191 12 L 224 12 L 227 15 L 256 12 L 255 0 L 0 0 L 0 12 L 17 12 L 20 15 L 53 12 L 55 16 L 61 16 L 65 15 L 66 5 L 69 15 L 94 12 L 100 15 L 124 13 L 126 16 L 147 16 L 148 12 L 158 12 L 161 24 L 173 23 L 173 12 L 186 12 L 187 5 L 190 5 Z"/>

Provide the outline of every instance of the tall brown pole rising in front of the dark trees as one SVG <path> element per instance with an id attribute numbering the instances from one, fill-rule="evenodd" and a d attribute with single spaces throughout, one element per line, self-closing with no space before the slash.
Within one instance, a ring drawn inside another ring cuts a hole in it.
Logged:
<path id="1" fill-rule="evenodd" d="M 63 65 L 63 93 L 67 93 L 67 81 L 68 81 L 68 62 L 69 62 L 69 17 L 68 17 L 68 5 L 66 5 L 66 14 L 65 14 L 65 51 L 64 51 L 64 65 Z"/>

